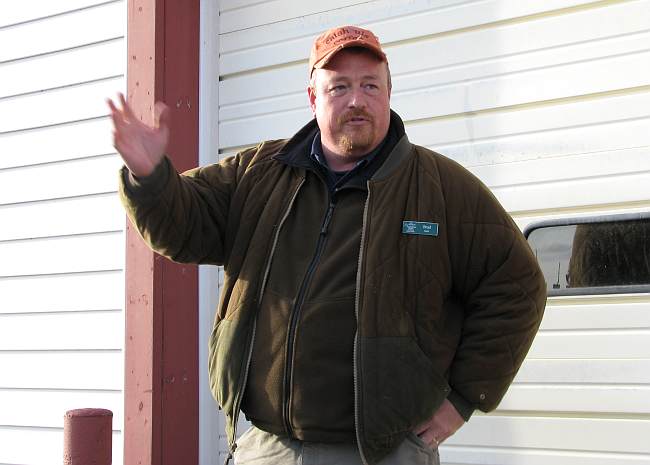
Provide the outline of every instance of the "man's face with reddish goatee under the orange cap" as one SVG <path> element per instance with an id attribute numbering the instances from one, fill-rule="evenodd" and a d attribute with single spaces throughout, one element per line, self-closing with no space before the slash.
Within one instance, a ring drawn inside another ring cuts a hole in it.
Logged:
<path id="1" fill-rule="evenodd" d="M 309 103 L 325 152 L 354 160 L 379 145 L 390 124 L 386 63 L 371 52 L 343 49 L 314 77 Z"/>

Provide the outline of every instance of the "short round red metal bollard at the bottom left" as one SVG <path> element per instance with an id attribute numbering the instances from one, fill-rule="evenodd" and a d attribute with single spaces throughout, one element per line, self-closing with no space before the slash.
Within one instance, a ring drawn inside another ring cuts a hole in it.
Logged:
<path id="1" fill-rule="evenodd" d="M 63 417 L 63 465 L 111 465 L 113 412 L 69 410 Z"/>

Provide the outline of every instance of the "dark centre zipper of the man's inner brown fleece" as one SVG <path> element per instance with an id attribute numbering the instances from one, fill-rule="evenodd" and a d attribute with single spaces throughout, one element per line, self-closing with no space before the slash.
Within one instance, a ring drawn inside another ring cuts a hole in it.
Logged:
<path id="1" fill-rule="evenodd" d="M 327 207 L 327 213 L 325 218 L 323 218 L 323 223 L 321 225 L 320 233 L 318 235 L 318 243 L 316 244 L 316 252 L 309 263 L 307 268 L 307 273 L 300 285 L 298 290 L 298 296 L 296 298 L 296 303 L 291 310 L 291 316 L 289 317 L 289 331 L 287 332 L 287 348 L 285 351 L 285 360 L 284 360 L 284 389 L 282 396 L 282 416 L 284 419 L 284 427 L 287 431 L 287 434 L 290 438 L 294 437 L 293 427 L 291 426 L 291 387 L 293 384 L 293 353 L 294 345 L 296 341 L 296 329 L 298 326 L 298 320 L 300 318 L 300 311 L 302 309 L 302 304 L 305 300 L 305 295 L 307 291 L 307 286 L 311 282 L 311 278 L 316 270 L 316 265 L 320 260 L 320 257 L 325 248 L 325 239 L 327 238 L 327 230 L 329 228 L 330 221 L 332 220 L 332 215 L 334 213 L 334 207 L 336 202 L 330 197 L 329 206 Z"/>

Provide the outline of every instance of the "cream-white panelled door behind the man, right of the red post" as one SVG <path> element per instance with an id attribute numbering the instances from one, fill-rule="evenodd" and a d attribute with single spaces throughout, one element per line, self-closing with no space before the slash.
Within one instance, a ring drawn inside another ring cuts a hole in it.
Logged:
<path id="1" fill-rule="evenodd" d="M 304 125 L 313 39 L 356 24 L 384 44 L 411 141 L 469 168 L 520 227 L 650 209 L 649 0 L 222 0 L 220 10 L 223 155 Z M 442 462 L 650 463 L 649 308 L 648 295 L 551 299 L 499 409 L 475 414 Z"/>

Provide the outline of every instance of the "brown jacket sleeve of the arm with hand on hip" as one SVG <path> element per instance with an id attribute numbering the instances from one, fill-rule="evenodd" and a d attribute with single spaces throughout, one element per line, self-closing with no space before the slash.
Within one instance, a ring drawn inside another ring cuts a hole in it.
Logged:
<path id="1" fill-rule="evenodd" d="M 464 178 L 446 193 L 457 212 L 448 213 L 449 251 L 464 315 L 449 400 L 468 419 L 505 395 L 541 323 L 546 283 L 508 213 L 478 179 Z"/>

